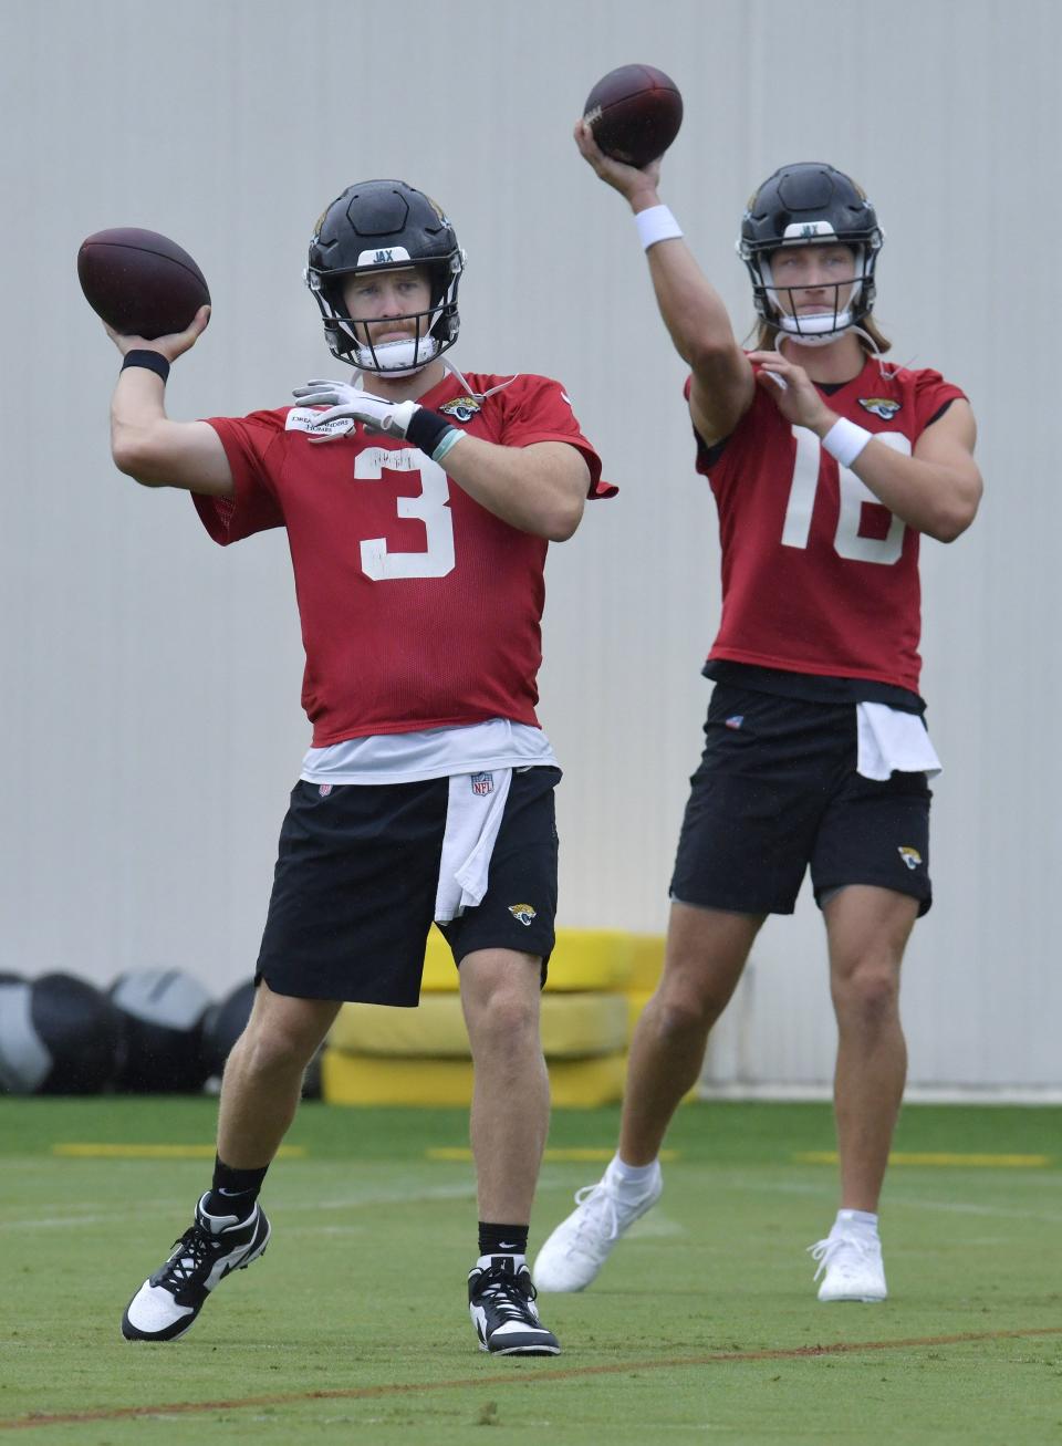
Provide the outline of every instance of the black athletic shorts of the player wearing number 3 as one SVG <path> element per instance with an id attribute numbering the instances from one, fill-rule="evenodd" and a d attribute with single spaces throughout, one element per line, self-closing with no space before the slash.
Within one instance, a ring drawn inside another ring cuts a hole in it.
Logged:
<path id="1" fill-rule="evenodd" d="M 556 917 L 558 768 L 513 769 L 487 892 L 438 925 L 455 963 L 477 949 L 542 959 Z M 298 782 L 280 830 L 257 977 L 299 999 L 413 1006 L 432 927 L 449 779 Z"/>

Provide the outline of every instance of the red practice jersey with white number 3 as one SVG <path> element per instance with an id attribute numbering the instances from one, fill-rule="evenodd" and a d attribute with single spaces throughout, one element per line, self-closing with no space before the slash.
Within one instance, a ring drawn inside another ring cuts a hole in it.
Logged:
<path id="1" fill-rule="evenodd" d="M 504 380 L 468 377 L 480 393 Z M 597 495 L 601 463 L 559 383 L 517 376 L 478 402 L 448 373 L 420 402 L 506 447 L 571 442 Z M 546 541 L 472 502 L 405 441 L 361 425 L 311 441 L 316 415 L 211 418 L 236 497 L 194 499 L 223 545 L 288 529 L 314 746 L 491 717 L 536 726 Z"/>

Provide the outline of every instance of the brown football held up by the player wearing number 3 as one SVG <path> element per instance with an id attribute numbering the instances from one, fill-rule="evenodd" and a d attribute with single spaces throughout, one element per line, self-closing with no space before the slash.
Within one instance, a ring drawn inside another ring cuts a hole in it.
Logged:
<path id="1" fill-rule="evenodd" d="M 188 252 L 157 231 L 118 226 L 81 243 L 85 301 L 123 337 L 168 337 L 210 305 L 207 281 Z"/>

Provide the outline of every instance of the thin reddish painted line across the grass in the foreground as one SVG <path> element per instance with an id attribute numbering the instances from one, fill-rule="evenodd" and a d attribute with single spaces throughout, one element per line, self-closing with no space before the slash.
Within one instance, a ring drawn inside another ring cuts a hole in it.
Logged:
<path id="1" fill-rule="evenodd" d="M 120 1421 L 137 1416 L 192 1416 L 197 1411 L 243 1411 L 254 1406 L 296 1406 L 301 1401 L 354 1401 L 379 1395 L 413 1395 L 428 1391 L 459 1391 L 467 1387 L 527 1385 L 529 1381 L 577 1381 L 588 1375 L 623 1375 L 624 1371 L 673 1371 L 681 1366 L 730 1365 L 734 1361 L 800 1361 L 826 1355 L 858 1355 L 861 1351 L 905 1351 L 918 1346 L 971 1345 L 978 1340 L 1027 1340 L 1033 1336 L 1062 1336 L 1062 1326 L 1029 1330 L 975 1330 L 959 1336 L 920 1336 L 907 1340 L 835 1340 L 828 1346 L 792 1346 L 787 1351 L 718 1351 L 705 1356 L 675 1356 L 669 1361 L 623 1361 L 616 1365 L 584 1365 L 568 1371 L 539 1371 L 519 1375 L 478 1375 L 459 1381 L 409 1381 L 405 1385 L 354 1385 L 335 1391 L 293 1391 L 277 1395 L 247 1395 L 233 1401 L 169 1401 L 163 1406 L 114 1406 L 94 1411 L 65 1411 L 55 1416 L 33 1413 L 0 1419 L 0 1430 L 33 1426 L 75 1426 L 85 1421 Z M 185 1348 L 186 1351 L 188 1348 Z"/>

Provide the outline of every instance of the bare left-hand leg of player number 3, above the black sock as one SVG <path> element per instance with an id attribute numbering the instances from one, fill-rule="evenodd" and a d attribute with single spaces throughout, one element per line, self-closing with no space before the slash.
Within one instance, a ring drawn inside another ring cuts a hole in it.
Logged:
<path id="1" fill-rule="evenodd" d="M 302 1076 L 332 1027 L 334 999 L 295 999 L 254 991 L 247 1028 L 233 1045 L 221 1082 L 218 1157 L 234 1170 L 267 1165 L 288 1134 Z"/>

